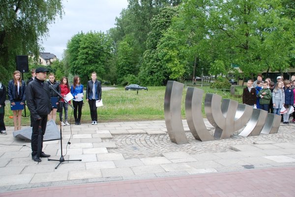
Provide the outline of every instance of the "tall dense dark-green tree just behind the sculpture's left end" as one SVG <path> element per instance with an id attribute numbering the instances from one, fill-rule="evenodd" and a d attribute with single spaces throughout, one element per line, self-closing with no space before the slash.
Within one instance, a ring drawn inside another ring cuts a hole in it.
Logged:
<path id="1" fill-rule="evenodd" d="M 177 58 L 177 40 L 173 35 L 161 38 L 170 27 L 172 18 L 177 15 L 174 7 L 159 9 L 159 14 L 151 20 L 151 32 L 148 33 L 147 50 L 143 55 L 139 78 L 143 85 L 160 86 L 171 78 L 177 78 L 182 69 Z M 170 41 L 170 42 L 169 42 Z"/>

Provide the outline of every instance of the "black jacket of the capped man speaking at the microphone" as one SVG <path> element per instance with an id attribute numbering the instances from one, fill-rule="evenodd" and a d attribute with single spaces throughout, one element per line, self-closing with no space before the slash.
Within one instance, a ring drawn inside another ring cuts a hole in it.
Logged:
<path id="1" fill-rule="evenodd" d="M 49 84 L 35 78 L 26 88 L 27 105 L 34 121 L 51 111 Z"/>

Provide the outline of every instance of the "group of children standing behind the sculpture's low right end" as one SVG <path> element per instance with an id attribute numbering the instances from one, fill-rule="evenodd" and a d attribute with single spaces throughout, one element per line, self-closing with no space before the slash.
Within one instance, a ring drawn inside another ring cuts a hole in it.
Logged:
<path id="1" fill-rule="evenodd" d="M 266 81 L 258 80 L 255 85 L 256 87 L 253 86 L 253 80 L 248 80 L 247 87 L 243 90 L 243 103 L 277 115 L 281 114 L 284 107 L 286 110 L 283 113 L 283 123 L 289 124 L 288 112 L 291 106 L 295 107 L 295 75 L 291 77 L 291 81 L 283 81 L 283 76 L 278 76 L 276 84 L 267 78 Z M 295 112 L 292 115 L 292 122 L 295 122 Z"/>

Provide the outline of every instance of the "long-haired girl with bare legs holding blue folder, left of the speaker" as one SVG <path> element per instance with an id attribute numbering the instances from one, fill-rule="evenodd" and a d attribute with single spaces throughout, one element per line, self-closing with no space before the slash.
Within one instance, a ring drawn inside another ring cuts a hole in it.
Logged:
<path id="1" fill-rule="evenodd" d="M 15 102 L 20 102 L 21 105 L 26 101 L 26 83 L 22 80 L 21 72 L 15 70 L 13 79 L 8 82 L 8 99 L 11 105 L 16 105 Z M 13 110 L 14 131 L 21 130 L 22 124 L 22 109 Z"/>

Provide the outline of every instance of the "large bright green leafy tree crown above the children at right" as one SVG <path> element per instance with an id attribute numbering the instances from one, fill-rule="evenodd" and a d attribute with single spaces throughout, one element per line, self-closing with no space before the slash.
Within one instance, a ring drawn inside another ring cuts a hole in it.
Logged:
<path id="1" fill-rule="evenodd" d="M 290 67 L 295 24 L 282 15 L 280 0 L 186 0 L 180 10 L 173 26 L 185 33 L 187 54 L 236 64 L 245 76 Z"/>

